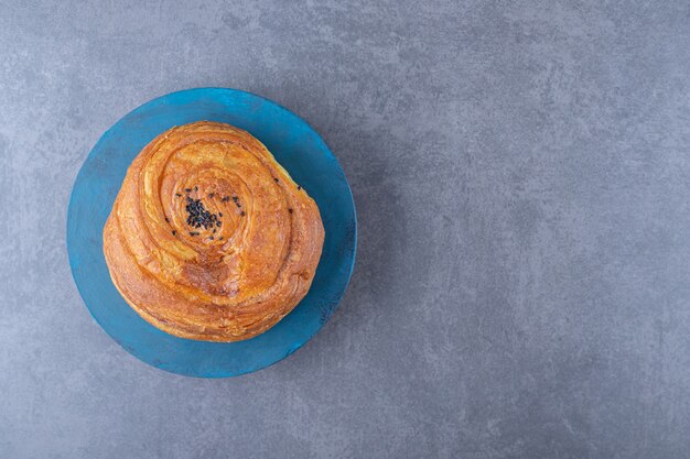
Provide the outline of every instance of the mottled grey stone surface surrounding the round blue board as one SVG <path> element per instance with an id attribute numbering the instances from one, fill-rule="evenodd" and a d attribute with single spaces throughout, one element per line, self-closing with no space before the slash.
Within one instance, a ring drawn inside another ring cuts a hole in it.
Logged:
<path id="1" fill-rule="evenodd" d="M 687 1 L 0 10 L 0 457 L 688 457 Z M 305 118 L 359 216 L 332 320 L 231 380 L 120 349 L 65 249 L 100 134 L 198 86 Z"/>

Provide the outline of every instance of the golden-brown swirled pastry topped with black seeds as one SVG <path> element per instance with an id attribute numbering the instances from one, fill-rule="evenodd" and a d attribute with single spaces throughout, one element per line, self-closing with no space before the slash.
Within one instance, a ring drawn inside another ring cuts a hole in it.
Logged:
<path id="1" fill-rule="evenodd" d="M 261 142 L 201 121 L 163 132 L 127 171 L 104 229 L 112 282 L 153 326 L 239 341 L 306 295 L 319 208 Z"/>

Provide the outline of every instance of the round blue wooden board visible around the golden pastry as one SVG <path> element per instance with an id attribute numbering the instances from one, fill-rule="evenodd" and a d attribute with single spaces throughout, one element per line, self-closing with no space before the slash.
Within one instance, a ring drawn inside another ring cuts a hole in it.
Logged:
<path id="1" fill-rule="evenodd" d="M 194 121 L 226 122 L 259 139 L 319 205 L 325 242 L 309 294 L 278 325 L 239 342 L 177 338 L 143 320 L 115 288 L 103 228 L 129 164 L 161 132 Z M 67 252 L 91 316 L 132 356 L 173 373 L 226 378 L 290 356 L 328 320 L 355 262 L 357 221 L 343 170 L 319 134 L 288 109 L 226 88 L 172 92 L 131 111 L 96 143 L 77 175 L 67 210 Z"/>

